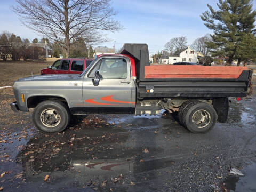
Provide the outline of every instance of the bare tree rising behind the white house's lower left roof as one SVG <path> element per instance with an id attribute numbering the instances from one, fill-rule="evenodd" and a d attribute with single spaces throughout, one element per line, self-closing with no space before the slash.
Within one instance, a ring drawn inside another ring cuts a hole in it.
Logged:
<path id="1" fill-rule="evenodd" d="M 187 37 L 175 37 L 165 44 L 166 51 L 169 51 L 173 55 L 176 51 L 185 49 L 187 46 Z"/>

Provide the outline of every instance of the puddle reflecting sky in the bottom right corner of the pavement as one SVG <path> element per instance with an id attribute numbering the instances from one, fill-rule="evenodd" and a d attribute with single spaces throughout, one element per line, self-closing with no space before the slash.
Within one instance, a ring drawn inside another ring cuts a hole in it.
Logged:
<path id="1" fill-rule="evenodd" d="M 241 170 L 244 177 L 228 175 L 224 180 L 224 185 L 228 191 L 256 191 L 256 163 Z"/>

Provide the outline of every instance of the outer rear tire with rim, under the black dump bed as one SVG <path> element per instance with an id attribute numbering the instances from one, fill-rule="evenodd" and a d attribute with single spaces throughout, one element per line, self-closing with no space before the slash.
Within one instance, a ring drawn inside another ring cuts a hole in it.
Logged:
<path id="1" fill-rule="evenodd" d="M 210 131 L 217 122 L 215 109 L 204 102 L 191 102 L 183 111 L 182 122 L 192 133 Z"/>

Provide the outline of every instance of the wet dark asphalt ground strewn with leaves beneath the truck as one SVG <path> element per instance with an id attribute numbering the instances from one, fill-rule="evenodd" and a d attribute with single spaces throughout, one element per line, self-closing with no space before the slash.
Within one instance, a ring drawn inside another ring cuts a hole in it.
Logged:
<path id="1" fill-rule="evenodd" d="M 76 117 L 59 134 L 1 127 L 3 191 L 256 191 L 256 94 L 193 134 L 175 115 Z M 9 110 L 9 109 L 6 109 Z M 1 124 L 0 124 L 1 126 Z M 244 177 L 229 174 L 232 167 Z M 1 189 L 1 188 L 0 188 Z"/>

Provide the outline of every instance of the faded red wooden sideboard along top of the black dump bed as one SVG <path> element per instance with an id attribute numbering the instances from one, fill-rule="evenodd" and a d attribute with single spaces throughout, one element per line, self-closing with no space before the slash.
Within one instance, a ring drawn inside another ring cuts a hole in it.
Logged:
<path id="1" fill-rule="evenodd" d="M 238 78 L 247 67 L 237 66 L 178 66 L 152 65 L 145 66 L 145 79 L 149 78 Z"/>

